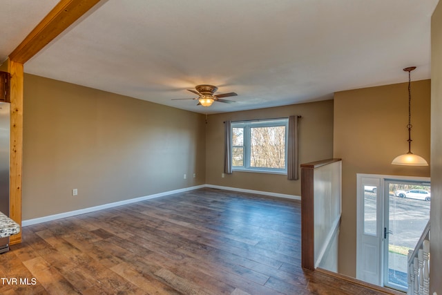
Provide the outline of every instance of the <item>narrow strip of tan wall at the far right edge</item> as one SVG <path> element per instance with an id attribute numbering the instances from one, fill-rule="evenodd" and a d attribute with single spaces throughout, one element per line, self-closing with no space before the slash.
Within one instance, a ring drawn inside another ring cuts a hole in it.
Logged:
<path id="1" fill-rule="evenodd" d="M 442 294 L 442 3 L 431 21 L 431 264 L 430 294 Z"/>

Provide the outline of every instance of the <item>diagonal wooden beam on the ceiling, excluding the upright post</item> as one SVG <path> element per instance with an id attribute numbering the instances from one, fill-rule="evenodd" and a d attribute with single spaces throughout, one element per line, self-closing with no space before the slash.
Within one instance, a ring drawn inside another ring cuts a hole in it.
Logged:
<path id="1" fill-rule="evenodd" d="M 11 61 L 26 63 L 41 49 L 93 8 L 100 0 L 61 0 L 40 21 L 17 48 L 9 55 Z"/>

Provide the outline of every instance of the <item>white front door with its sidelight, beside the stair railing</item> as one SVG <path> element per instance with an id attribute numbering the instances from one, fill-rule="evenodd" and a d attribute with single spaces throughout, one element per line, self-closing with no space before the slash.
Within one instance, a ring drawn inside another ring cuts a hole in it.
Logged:
<path id="1" fill-rule="evenodd" d="M 430 219 L 430 178 L 357 175 L 356 278 L 407 291 L 407 254 Z"/>

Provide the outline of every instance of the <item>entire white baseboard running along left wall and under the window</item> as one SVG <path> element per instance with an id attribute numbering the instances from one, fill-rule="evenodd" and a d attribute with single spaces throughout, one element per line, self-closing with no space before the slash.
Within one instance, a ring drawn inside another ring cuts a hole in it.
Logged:
<path id="1" fill-rule="evenodd" d="M 175 189 L 173 191 L 164 191 L 164 193 L 155 193 L 155 194 L 149 195 L 149 196 L 133 198 L 133 199 L 129 199 L 129 200 L 122 200 L 122 201 L 118 201 L 118 202 L 102 204 L 102 205 L 95 206 L 95 207 L 88 207 L 88 208 L 84 208 L 84 209 L 68 211 L 68 212 L 64 212 L 64 213 L 58 213 L 58 214 L 54 214 L 54 215 L 50 215 L 50 216 L 44 216 L 44 217 L 39 217 L 39 218 L 23 220 L 21 222 L 21 227 L 27 227 L 28 225 L 37 225 L 38 223 L 41 223 L 41 222 L 47 222 L 47 221 L 51 221 L 51 220 L 57 220 L 60 218 L 76 216 L 76 215 L 89 213 L 89 212 L 93 212 L 93 211 L 99 211 L 99 210 L 103 210 L 103 209 L 117 207 L 117 206 L 121 206 L 124 204 L 131 204 L 131 203 L 135 203 L 135 202 L 140 202 L 143 200 L 160 198 L 163 196 L 173 195 L 174 193 L 193 191 L 195 189 L 202 189 L 204 187 L 210 187 L 212 189 L 224 189 L 226 191 L 239 191 L 241 193 L 255 193 L 257 195 L 265 195 L 265 196 L 278 197 L 278 198 L 287 198 L 287 199 L 292 199 L 292 200 L 300 200 L 301 199 L 300 196 L 285 195 L 284 193 L 271 193 L 269 191 L 253 191 L 252 189 L 238 189 L 236 187 L 221 187 L 219 185 L 202 184 L 202 185 L 198 185 L 195 187 L 186 187 L 184 189 Z"/>

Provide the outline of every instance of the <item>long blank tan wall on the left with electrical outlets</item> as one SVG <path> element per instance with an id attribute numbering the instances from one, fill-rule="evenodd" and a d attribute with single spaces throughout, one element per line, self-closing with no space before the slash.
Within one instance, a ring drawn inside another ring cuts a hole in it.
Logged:
<path id="1" fill-rule="evenodd" d="M 35 75 L 23 114 L 23 220 L 205 183 L 203 115 Z"/>

